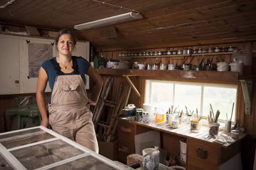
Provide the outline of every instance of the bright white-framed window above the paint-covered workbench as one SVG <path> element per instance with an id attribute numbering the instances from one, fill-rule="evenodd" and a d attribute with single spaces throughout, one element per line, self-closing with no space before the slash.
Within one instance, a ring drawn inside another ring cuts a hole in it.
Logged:
<path id="1" fill-rule="evenodd" d="M 233 102 L 235 103 L 232 122 L 235 121 L 237 85 L 185 83 L 176 81 L 146 80 L 145 103 L 177 108 L 177 111 L 188 110 L 202 117 L 210 114 L 210 104 L 214 114 L 220 111 L 219 121 L 230 119 Z"/>

